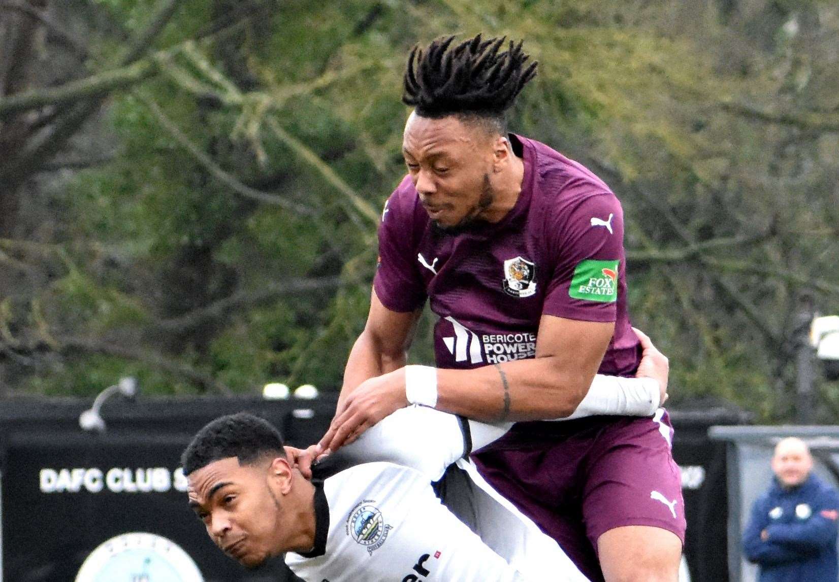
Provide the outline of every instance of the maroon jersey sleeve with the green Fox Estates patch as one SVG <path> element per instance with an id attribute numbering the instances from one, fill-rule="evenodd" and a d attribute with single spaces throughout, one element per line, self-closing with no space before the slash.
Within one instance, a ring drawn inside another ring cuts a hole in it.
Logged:
<path id="1" fill-rule="evenodd" d="M 554 257 L 543 314 L 569 320 L 615 321 L 626 292 L 623 210 L 611 192 L 580 195 L 548 216 Z M 611 218 L 610 218 L 611 216 Z"/>

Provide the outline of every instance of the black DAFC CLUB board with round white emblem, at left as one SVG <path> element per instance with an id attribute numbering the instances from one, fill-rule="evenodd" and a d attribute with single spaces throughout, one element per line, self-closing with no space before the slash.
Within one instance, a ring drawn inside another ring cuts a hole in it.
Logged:
<path id="1" fill-rule="evenodd" d="M 101 435 L 78 428 L 84 408 L 0 416 L 5 582 L 190 582 L 198 578 L 181 573 L 195 566 L 204 582 L 296 579 L 279 559 L 248 571 L 213 546 L 187 507 L 180 453 L 203 424 L 239 410 L 268 418 L 290 444 L 310 444 L 334 401 L 125 404 L 106 408 Z"/>

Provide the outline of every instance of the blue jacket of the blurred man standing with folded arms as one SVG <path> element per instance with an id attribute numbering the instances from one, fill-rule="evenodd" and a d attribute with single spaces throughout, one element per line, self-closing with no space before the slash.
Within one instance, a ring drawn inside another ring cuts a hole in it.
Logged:
<path id="1" fill-rule="evenodd" d="M 836 582 L 837 518 L 839 493 L 816 476 L 792 489 L 775 480 L 754 502 L 743 533 L 743 550 L 760 565 L 760 582 Z"/>

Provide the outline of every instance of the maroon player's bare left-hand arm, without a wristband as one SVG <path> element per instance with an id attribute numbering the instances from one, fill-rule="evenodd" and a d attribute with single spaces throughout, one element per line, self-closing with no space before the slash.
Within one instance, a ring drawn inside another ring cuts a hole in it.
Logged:
<path id="1" fill-rule="evenodd" d="M 338 408 L 341 408 L 347 395 L 365 380 L 394 372 L 405 365 L 420 314 L 421 309 L 399 312 L 386 308 L 373 289 L 367 324 L 352 346 L 344 369 Z"/>

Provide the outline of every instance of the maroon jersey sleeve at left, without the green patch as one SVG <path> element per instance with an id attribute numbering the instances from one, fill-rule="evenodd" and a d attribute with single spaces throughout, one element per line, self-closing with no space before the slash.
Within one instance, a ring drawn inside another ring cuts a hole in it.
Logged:
<path id="1" fill-rule="evenodd" d="M 373 289 L 391 311 L 414 311 L 425 304 L 425 283 L 417 269 L 411 199 L 403 181 L 385 202 L 378 226 L 378 266 Z"/>

